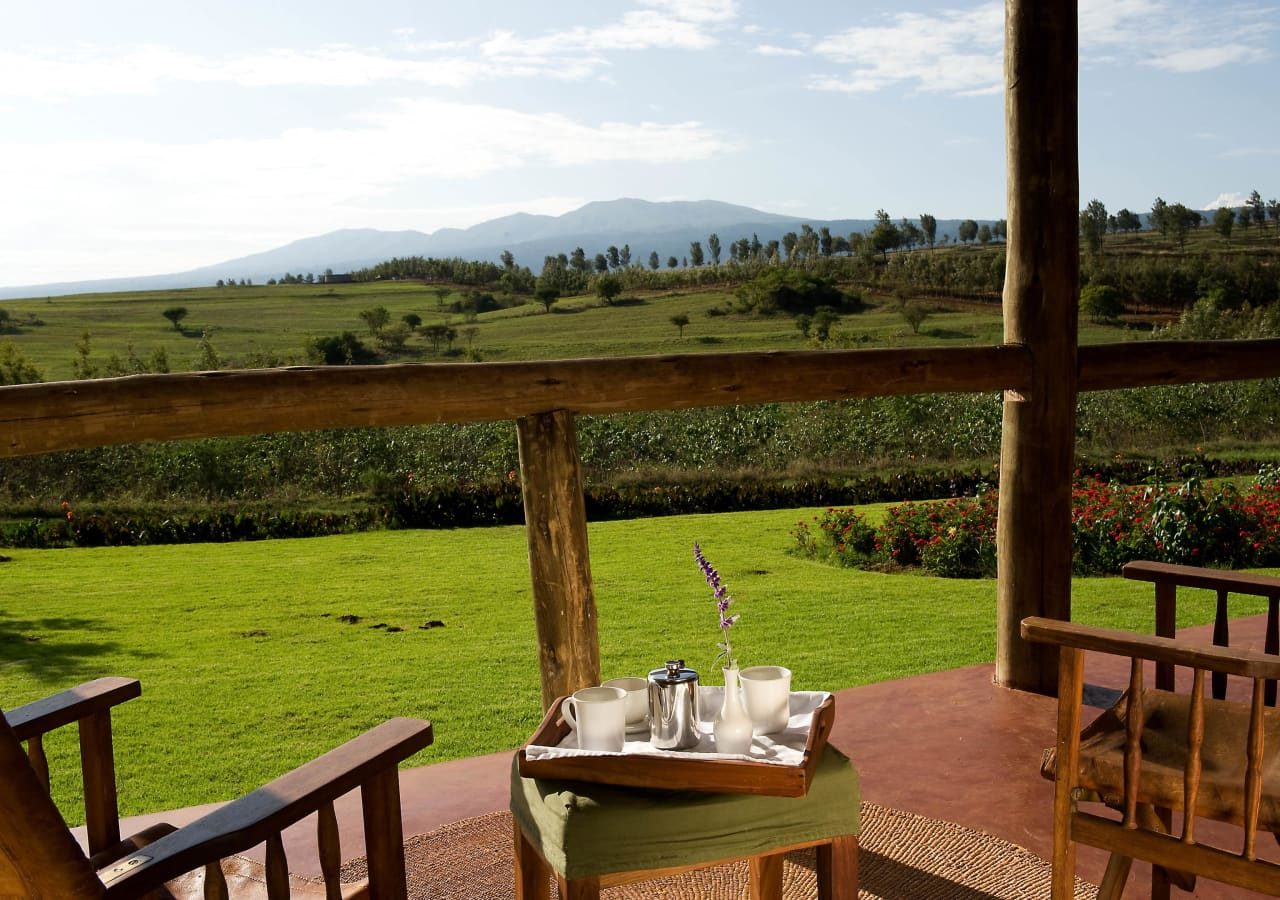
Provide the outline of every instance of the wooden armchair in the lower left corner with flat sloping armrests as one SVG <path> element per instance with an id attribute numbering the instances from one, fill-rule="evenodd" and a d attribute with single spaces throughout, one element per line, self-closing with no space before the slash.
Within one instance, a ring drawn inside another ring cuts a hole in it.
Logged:
<path id="1" fill-rule="evenodd" d="M 163 824 L 120 840 L 111 708 L 141 694 L 132 679 L 99 679 L 0 716 L 0 896 L 404 897 L 397 764 L 431 743 L 431 723 L 397 718 L 233 800 L 183 828 Z M 90 854 L 49 795 L 44 735 L 78 723 Z M 27 743 L 23 751 L 20 741 Z M 333 801 L 360 787 L 369 882 L 338 883 Z M 280 832 L 317 813 L 324 883 L 288 874 Z M 236 856 L 266 842 L 265 867 Z"/>

